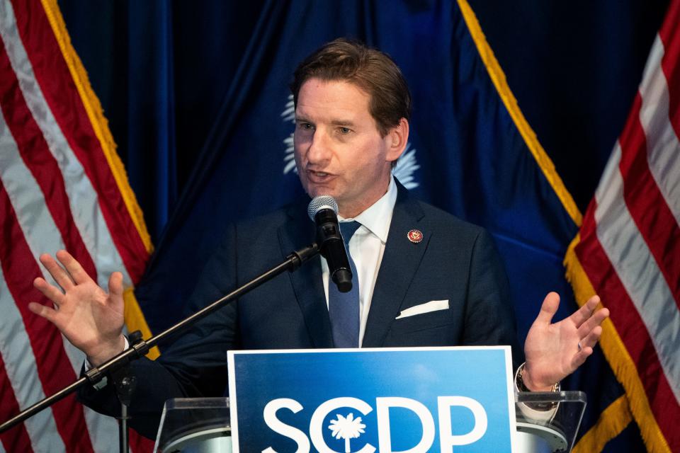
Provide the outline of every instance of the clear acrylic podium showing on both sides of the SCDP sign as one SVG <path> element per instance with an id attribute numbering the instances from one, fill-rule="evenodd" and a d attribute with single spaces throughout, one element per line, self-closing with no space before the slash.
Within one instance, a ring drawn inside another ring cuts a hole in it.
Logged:
<path id="1" fill-rule="evenodd" d="M 582 391 L 519 392 L 515 405 L 517 453 L 571 451 L 586 406 Z M 168 400 L 154 447 L 157 452 L 231 453 L 229 398 Z"/>

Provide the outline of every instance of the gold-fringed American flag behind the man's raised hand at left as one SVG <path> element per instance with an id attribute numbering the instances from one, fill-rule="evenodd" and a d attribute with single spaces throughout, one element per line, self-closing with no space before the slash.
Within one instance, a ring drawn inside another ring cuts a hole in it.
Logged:
<path id="1" fill-rule="evenodd" d="M 0 0 L 0 420 L 77 379 L 84 355 L 28 311 L 40 253 L 65 248 L 106 287 L 123 271 L 125 319 L 151 243 L 101 105 L 56 0 Z M 148 335 L 148 329 L 145 330 Z M 118 451 L 118 428 L 74 396 L 0 435 L 0 452 Z M 136 451 L 149 441 L 132 435 Z"/>

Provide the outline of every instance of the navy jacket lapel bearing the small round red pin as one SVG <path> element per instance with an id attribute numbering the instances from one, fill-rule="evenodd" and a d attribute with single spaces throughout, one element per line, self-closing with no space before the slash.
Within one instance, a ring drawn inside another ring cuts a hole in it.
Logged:
<path id="1" fill-rule="evenodd" d="M 397 183 L 397 188 L 399 194 L 370 302 L 363 348 L 382 346 L 387 331 L 399 314 L 399 307 L 406 297 L 430 239 L 431 231 L 424 231 L 421 227 L 423 240 L 419 243 L 409 241 L 408 232 L 419 229 L 424 213 L 401 184 Z"/>

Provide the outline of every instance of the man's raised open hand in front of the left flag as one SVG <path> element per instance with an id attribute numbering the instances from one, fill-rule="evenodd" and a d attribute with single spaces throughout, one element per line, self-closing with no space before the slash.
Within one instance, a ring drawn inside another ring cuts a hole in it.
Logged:
<path id="1" fill-rule="evenodd" d="M 57 326 L 92 365 L 101 365 L 125 348 L 123 275 L 111 274 L 107 293 L 67 251 L 60 250 L 56 256 L 61 265 L 47 253 L 40 256 L 40 263 L 59 287 L 42 277 L 33 281 L 54 307 L 30 302 L 28 308 Z"/>

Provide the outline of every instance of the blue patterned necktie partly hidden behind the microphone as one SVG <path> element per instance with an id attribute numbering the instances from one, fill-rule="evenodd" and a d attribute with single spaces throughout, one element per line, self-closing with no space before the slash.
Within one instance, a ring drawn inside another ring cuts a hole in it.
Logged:
<path id="1" fill-rule="evenodd" d="M 349 241 L 359 226 L 361 224 L 356 221 L 340 222 L 340 234 L 352 271 L 352 289 L 349 292 L 339 292 L 332 280 L 329 279 L 328 282 L 328 313 L 331 318 L 333 344 L 336 348 L 359 347 L 359 279 L 356 265 L 349 253 Z"/>

